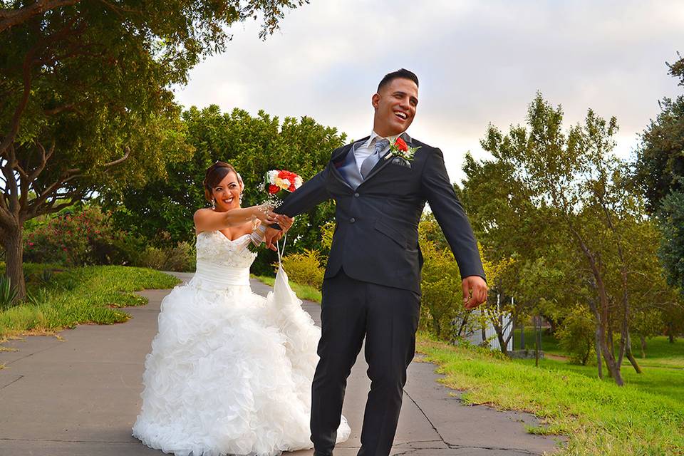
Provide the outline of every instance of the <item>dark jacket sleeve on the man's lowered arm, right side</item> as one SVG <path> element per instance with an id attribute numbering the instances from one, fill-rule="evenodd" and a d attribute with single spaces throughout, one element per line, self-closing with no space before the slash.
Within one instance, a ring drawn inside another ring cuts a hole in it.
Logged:
<path id="1" fill-rule="evenodd" d="M 427 153 L 421 183 L 430 209 L 449 242 L 461 277 L 480 276 L 486 280 L 475 234 L 449 180 L 441 150 L 432 149 Z"/>

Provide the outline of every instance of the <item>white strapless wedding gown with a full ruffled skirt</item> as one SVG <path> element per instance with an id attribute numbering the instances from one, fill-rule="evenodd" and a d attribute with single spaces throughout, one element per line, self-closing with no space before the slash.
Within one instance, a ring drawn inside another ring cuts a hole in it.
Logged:
<path id="1" fill-rule="evenodd" d="M 256 254 L 220 232 L 197 235 L 197 272 L 162 301 L 145 358 L 133 435 L 182 456 L 273 456 L 311 448 L 311 380 L 321 330 L 282 269 L 252 293 Z M 351 430 L 344 418 L 337 434 Z"/>

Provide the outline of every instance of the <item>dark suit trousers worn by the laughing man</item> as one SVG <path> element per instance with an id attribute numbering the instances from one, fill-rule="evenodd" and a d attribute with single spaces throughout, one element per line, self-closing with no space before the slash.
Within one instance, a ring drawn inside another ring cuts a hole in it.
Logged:
<path id="1" fill-rule="evenodd" d="M 413 291 L 351 279 L 341 269 L 323 281 L 321 340 L 311 387 L 311 441 L 317 454 L 335 446 L 347 377 L 363 338 L 371 391 L 358 456 L 390 454 L 415 354 L 420 296 Z"/>

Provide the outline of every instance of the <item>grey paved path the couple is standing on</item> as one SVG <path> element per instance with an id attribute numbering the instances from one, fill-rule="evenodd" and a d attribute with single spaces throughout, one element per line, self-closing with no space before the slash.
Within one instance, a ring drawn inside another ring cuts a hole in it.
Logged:
<path id="1" fill-rule="evenodd" d="M 259 294 L 269 291 L 258 281 L 252 287 Z M 130 428 L 140 408 L 142 363 L 167 293 L 142 291 L 150 302 L 126 309 L 133 315 L 127 323 L 78 326 L 60 333 L 63 340 L 35 336 L 6 343 L 18 351 L 0 352 L 5 365 L 0 369 L 0 455 L 162 455 L 131 437 Z M 304 307 L 319 322 L 318 304 Z M 362 350 L 343 409 L 351 437 L 336 447 L 335 456 L 358 451 L 369 387 L 366 368 Z M 418 360 L 410 365 L 393 455 L 527 456 L 556 449 L 553 438 L 525 432 L 524 424 L 538 424 L 532 415 L 463 405 L 436 383 L 434 369 Z"/>

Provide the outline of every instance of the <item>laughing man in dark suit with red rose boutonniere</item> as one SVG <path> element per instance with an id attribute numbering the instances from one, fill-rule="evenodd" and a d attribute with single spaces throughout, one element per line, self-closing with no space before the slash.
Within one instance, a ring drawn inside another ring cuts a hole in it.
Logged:
<path id="1" fill-rule="evenodd" d="M 312 385 L 311 440 L 316 456 L 332 455 L 347 377 L 366 338 L 371 391 L 358 456 L 389 455 L 415 351 L 420 314 L 418 222 L 425 202 L 437 217 L 463 277 L 468 309 L 487 299 L 477 243 L 442 151 L 406 133 L 418 106 L 418 77 L 386 75 L 372 98 L 373 133 L 333 151 L 326 168 L 275 212 L 294 217 L 336 201 L 336 229 L 321 304 L 321 341 Z M 405 149 L 415 147 L 415 155 Z M 390 148 L 390 145 L 393 147 Z M 279 239 L 271 227 L 266 244 Z"/>

